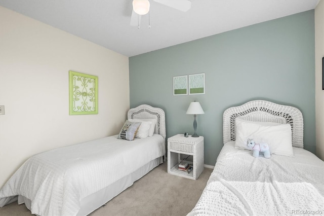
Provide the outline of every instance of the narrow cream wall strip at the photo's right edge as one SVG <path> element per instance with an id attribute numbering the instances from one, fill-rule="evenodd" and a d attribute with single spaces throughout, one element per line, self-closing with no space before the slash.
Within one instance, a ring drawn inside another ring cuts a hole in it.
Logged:
<path id="1" fill-rule="evenodd" d="M 322 90 L 322 57 L 324 57 L 324 1 L 315 9 L 315 110 L 316 155 L 324 160 L 324 90 Z"/>

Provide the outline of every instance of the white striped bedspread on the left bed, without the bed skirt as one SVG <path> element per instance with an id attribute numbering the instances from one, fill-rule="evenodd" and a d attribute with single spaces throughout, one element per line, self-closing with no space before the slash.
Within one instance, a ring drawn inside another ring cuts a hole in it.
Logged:
<path id="1" fill-rule="evenodd" d="M 165 155 L 158 134 L 128 141 L 110 136 L 37 154 L 0 190 L 0 206 L 23 195 L 38 215 L 75 215 L 80 200 Z"/>

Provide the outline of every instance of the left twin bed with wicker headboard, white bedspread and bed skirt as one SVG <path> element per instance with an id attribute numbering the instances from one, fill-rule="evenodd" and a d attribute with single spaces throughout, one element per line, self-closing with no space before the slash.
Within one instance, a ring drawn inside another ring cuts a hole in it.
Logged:
<path id="1" fill-rule="evenodd" d="M 165 160 L 164 111 L 144 104 L 128 120 L 153 122 L 151 136 L 114 135 L 34 155 L 0 190 L 0 206 L 18 199 L 37 215 L 87 215 L 104 205 Z"/>

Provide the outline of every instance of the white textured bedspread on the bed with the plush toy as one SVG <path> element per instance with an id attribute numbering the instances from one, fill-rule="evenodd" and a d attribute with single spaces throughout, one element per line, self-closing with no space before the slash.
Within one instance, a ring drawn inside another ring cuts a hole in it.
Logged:
<path id="1" fill-rule="evenodd" d="M 324 214 L 324 162 L 303 149 L 294 154 L 254 158 L 226 143 L 188 215 Z"/>

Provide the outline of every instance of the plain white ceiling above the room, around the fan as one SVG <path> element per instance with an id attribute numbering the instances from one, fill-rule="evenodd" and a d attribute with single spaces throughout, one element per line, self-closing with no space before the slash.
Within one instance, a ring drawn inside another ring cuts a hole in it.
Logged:
<path id="1" fill-rule="evenodd" d="M 144 15 L 140 29 L 130 26 L 132 0 L 0 0 L 0 6 L 130 57 L 308 11 L 318 2 L 191 0 L 181 12 L 150 0 L 151 28 Z"/>

